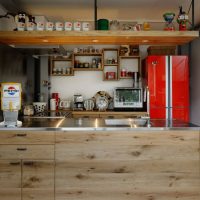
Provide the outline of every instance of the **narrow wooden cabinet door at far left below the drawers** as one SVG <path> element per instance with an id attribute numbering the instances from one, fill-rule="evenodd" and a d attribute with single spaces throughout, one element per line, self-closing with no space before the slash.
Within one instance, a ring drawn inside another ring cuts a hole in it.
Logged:
<path id="1" fill-rule="evenodd" d="M 21 161 L 0 161 L 0 200 L 21 200 Z"/>

